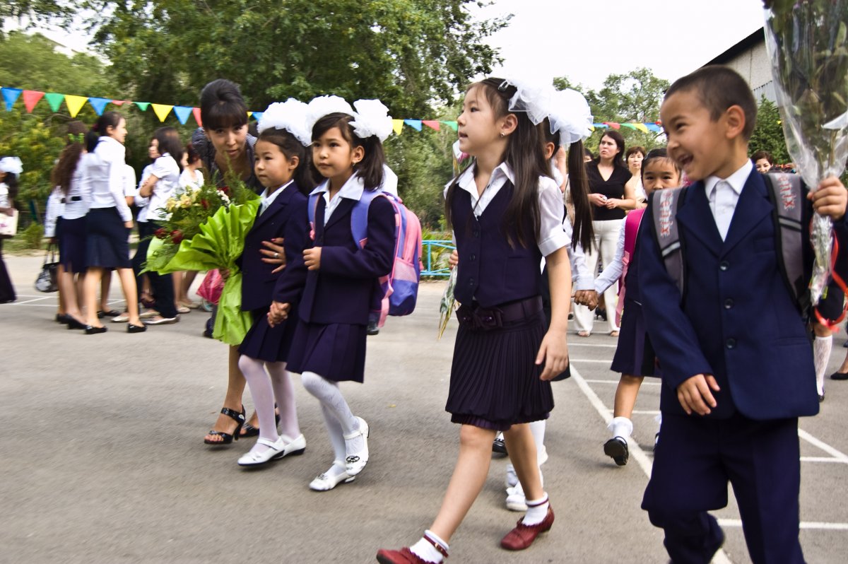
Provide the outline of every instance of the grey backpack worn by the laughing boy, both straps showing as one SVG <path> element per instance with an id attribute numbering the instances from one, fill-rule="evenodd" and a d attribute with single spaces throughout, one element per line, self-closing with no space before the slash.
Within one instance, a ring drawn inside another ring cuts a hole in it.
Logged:
<path id="1" fill-rule="evenodd" d="M 763 175 L 768 201 L 774 206 L 774 238 L 777 249 L 778 270 L 786 288 L 802 315 L 811 305 L 810 293 L 804 276 L 803 205 L 805 202 L 801 176 L 794 174 Z M 666 271 L 680 290 L 680 301 L 686 296 L 686 248 L 680 238 L 678 209 L 686 200 L 688 187 L 667 188 L 651 196 L 654 204 L 651 220 L 654 237 Z"/>

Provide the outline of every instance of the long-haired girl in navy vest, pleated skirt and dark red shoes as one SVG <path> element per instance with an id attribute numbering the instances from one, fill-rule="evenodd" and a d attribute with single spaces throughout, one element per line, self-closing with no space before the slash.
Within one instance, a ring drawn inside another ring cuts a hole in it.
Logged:
<path id="1" fill-rule="evenodd" d="M 408 548 L 377 552 L 382 564 L 438 563 L 448 556 L 451 536 L 483 489 L 498 431 L 527 496 L 527 513 L 501 546 L 526 549 L 554 522 L 529 423 L 548 417 L 550 379 L 568 362 L 570 241 L 562 229 L 562 193 L 527 105 L 510 82 L 488 78 L 471 85 L 457 119 L 460 150 L 476 158 L 445 194 L 459 254 L 455 296 L 462 304 L 445 409 L 461 424 L 460 455 L 430 528 Z M 551 289 L 547 331 L 539 295 L 543 256 Z"/>

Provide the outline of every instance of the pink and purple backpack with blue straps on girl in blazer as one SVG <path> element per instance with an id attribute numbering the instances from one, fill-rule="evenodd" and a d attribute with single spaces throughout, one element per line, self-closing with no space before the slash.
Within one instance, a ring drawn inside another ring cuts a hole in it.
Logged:
<path id="1" fill-rule="evenodd" d="M 311 233 L 315 234 L 315 209 L 321 193 L 310 194 L 309 215 Z M 350 231 L 354 243 L 364 248 L 368 242 L 368 207 L 371 200 L 386 198 L 394 209 L 394 260 L 388 276 L 380 276 L 380 288 L 371 300 L 371 310 L 379 314 L 377 326 L 382 327 L 386 316 L 408 316 L 416 309 L 418 282 L 421 279 L 421 221 L 406 209 L 403 201 L 391 193 L 365 190 L 350 212 Z"/>

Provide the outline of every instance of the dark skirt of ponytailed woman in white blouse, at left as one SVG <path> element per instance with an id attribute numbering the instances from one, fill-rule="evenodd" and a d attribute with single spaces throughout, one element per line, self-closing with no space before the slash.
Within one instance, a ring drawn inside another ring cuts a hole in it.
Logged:
<path id="1" fill-rule="evenodd" d="M 132 268 L 130 230 L 116 208 L 92 208 L 86 215 L 86 265 Z"/>

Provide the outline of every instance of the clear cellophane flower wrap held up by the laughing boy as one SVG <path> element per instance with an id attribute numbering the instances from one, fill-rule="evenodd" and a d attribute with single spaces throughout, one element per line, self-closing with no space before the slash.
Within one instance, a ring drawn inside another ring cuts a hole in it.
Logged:
<path id="1" fill-rule="evenodd" d="M 766 0 L 766 44 L 789 155 L 812 190 L 848 158 L 848 0 Z M 810 293 L 832 271 L 833 222 L 814 215 Z"/>

